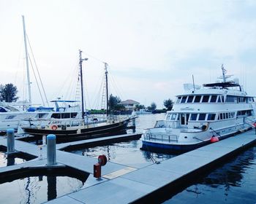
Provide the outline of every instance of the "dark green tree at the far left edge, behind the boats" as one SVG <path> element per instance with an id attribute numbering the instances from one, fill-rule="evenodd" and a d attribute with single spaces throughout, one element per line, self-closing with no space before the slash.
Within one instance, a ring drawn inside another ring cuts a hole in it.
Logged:
<path id="1" fill-rule="evenodd" d="M 12 84 L 0 85 L 0 101 L 15 102 L 18 99 L 17 93 L 17 87 Z"/>

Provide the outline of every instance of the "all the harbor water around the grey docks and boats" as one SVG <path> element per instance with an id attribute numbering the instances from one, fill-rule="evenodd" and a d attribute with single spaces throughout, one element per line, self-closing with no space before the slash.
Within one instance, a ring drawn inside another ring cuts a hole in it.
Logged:
<path id="1" fill-rule="evenodd" d="M 145 114 L 136 119 L 136 132 L 153 127 L 165 114 Z M 129 132 L 132 130 L 128 130 Z M 256 137 L 256 136 L 255 136 Z M 105 154 L 110 162 L 142 168 L 149 162 L 176 157 L 175 154 L 159 154 L 140 149 L 140 140 L 75 149 L 75 154 L 98 157 Z M 0 154 L 0 166 L 7 166 L 4 152 Z M 17 160 L 15 163 L 25 162 Z M 108 164 L 107 164 L 108 165 Z M 47 200 L 75 192 L 83 188 L 83 182 L 68 176 L 30 176 L 0 184 L 0 203 L 43 203 Z M 15 195 L 15 196 L 13 196 Z M 203 174 L 198 174 L 182 187 L 163 189 L 162 197 L 155 203 L 256 203 L 256 145 L 225 160 Z"/>

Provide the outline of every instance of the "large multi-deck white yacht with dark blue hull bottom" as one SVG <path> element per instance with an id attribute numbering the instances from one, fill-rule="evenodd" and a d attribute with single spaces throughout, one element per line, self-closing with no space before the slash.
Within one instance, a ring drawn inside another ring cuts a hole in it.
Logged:
<path id="1" fill-rule="evenodd" d="M 222 66 L 223 82 L 184 85 L 165 119 L 143 131 L 143 149 L 189 151 L 256 127 L 254 97 L 229 77 Z"/>

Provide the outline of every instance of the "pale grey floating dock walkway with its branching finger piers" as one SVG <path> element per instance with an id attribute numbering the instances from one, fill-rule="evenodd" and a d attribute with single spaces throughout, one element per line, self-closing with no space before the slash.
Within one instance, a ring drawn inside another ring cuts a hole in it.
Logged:
<path id="1" fill-rule="evenodd" d="M 177 185 L 186 184 L 187 179 L 200 175 L 205 170 L 211 170 L 217 163 L 256 142 L 255 130 L 250 130 L 170 158 L 159 164 L 127 166 L 108 162 L 102 167 L 102 178 L 100 180 L 93 176 L 93 165 L 97 163 L 97 158 L 61 151 L 61 149 L 69 149 L 75 146 L 106 142 L 106 139 L 115 141 L 125 137 L 132 138 L 136 137 L 135 135 L 127 134 L 57 144 L 56 158 L 58 165 L 67 165 L 90 173 L 90 175 L 83 188 L 78 192 L 57 197 L 47 203 L 146 203 L 148 200 L 154 202 L 156 195 L 161 193 L 162 190 L 166 188 L 174 190 Z M 1 138 L 0 145 L 6 146 L 6 144 L 6 138 Z M 38 147 L 34 144 L 16 140 L 15 149 L 38 156 Z M 28 166 L 45 165 L 46 146 L 42 149 L 42 156 L 42 160 L 34 159 L 20 165 L 0 168 L 0 173 Z M 155 203 L 159 203 L 159 200 L 155 200 Z"/>

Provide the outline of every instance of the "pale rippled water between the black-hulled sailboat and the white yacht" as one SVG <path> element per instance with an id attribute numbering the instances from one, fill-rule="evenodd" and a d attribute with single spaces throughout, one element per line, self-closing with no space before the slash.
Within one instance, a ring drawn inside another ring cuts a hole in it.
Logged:
<path id="1" fill-rule="evenodd" d="M 136 119 L 136 132 L 141 133 L 146 127 L 154 127 L 154 123 L 157 119 L 163 119 L 165 114 L 145 114 L 140 115 Z M 132 130 L 128 130 L 132 132 Z M 148 162 L 155 162 L 170 159 L 175 155 L 171 154 L 157 154 L 153 152 L 147 152 L 140 149 L 142 141 L 124 141 L 115 144 L 108 144 L 105 146 L 94 146 L 91 148 L 76 149 L 72 151 L 75 154 L 83 154 L 90 157 L 98 157 L 100 154 L 105 154 L 108 161 L 116 162 L 123 165 L 132 165 L 137 168 L 142 167 Z"/>

